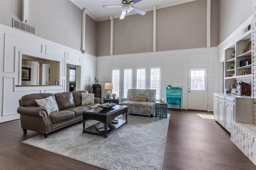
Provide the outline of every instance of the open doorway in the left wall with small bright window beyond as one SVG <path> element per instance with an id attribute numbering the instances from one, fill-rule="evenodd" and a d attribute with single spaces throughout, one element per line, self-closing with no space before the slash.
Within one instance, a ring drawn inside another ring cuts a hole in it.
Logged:
<path id="1" fill-rule="evenodd" d="M 81 66 L 67 64 L 67 92 L 80 90 Z"/>

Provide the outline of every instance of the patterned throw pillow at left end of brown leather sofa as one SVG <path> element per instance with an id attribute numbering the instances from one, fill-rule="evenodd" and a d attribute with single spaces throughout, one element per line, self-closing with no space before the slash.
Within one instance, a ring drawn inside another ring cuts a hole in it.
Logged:
<path id="1" fill-rule="evenodd" d="M 48 113 L 59 111 L 59 108 L 56 102 L 54 102 L 52 96 L 49 96 L 48 98 L 43 98 L 43 99 L 36 99 L 36 104 L 39 107 L 44 107 Z"/>

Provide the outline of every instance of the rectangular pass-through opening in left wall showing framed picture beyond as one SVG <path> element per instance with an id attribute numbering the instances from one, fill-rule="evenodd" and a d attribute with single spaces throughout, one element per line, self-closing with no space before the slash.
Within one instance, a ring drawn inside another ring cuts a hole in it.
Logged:
<path id="1" fill-rule="evenodd" d="M 55 85 L 60 80 L 60 62 L 22 55 L 21 85 Z"/>

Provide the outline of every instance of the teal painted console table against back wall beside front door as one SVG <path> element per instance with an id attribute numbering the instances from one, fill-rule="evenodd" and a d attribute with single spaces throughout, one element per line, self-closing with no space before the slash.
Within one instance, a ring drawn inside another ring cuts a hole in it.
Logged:
<path id="1" fill-rule="evenodd" d="M 182 110 L 182 88 L 172 87 L 168 89 L 166 87 L 167 103 L 170 106 L 180 106 Z"/>

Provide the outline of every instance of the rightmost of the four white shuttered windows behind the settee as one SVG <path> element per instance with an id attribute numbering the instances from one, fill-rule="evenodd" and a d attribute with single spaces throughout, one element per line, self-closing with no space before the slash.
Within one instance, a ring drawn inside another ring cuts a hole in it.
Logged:
<path id="1" fill-rule="evenodd" d="M 160 99 L 160 67 L 150 68 L 150 89 L 155 89 L 156 99 Z"/>

